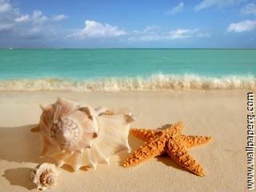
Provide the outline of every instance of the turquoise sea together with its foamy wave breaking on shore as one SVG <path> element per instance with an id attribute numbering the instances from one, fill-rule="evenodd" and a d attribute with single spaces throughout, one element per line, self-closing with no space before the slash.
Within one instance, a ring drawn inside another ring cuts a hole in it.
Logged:
<path id="1" fill-rule="evenodd" d="M 0 90 L 255 90 L 256 50 L 0 50 Z"/>

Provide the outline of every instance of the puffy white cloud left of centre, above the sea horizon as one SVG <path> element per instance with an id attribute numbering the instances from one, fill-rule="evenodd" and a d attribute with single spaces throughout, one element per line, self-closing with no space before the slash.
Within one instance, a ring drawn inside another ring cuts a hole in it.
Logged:
<path id="1" fill-rule="evenodd" d="M 107 23 L 102 24 L 100 22 L 86 20 L 85 25 L 84 29 L 78 30 L 78 32 L 68 36 L 78 38 L 111 38 L 126 34 L 125 30 L 120 30 L 118 26 L 110 26 Z"/>

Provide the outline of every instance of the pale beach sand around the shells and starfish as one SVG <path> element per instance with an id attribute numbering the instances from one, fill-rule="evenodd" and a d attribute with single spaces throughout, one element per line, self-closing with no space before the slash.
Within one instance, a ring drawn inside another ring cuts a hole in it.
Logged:
<path id="1" fill-rule="evenodd" d="M 58 96 L 90 106 L 130 108 L 134 127 L 154 129 L 182 121 L 184 134 L 210 135 L 213 140 L 190 150 L 206 170 L 198 177 L 177 166 L 168 156 L 124 168 L 129 154 L 111 158 L 110 166 L 97 170 L 61 169 L 58 186 L 49 191 L 245 191 L 246 190 L 246 91 L 175 90 L 119 93 L 1 92 L 0 191 L 34 190 L 30 170 L 42 162 L 41 141 L 30 129 L 38 123 L 38 103 L 55 102 Z M 142 144 L 130 135 L 134 150 Z"/>

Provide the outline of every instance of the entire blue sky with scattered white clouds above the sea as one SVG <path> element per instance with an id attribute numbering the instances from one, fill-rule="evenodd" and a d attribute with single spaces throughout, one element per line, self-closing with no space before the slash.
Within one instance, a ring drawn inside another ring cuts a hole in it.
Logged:
<path id="1" fill-rule="evenodd" d="M 256 48 L 256 0 L 0 0 L 0 47 Z"/>

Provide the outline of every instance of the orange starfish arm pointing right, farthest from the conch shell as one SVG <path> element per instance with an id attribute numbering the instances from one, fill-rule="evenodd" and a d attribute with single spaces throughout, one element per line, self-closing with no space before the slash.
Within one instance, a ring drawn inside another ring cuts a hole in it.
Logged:
<path id="1" fill-rule="evenodd" d="M 193 146 L 200 146 L 202 144 L 205 144 L 206 142 L 209 142 L 211 137 L 208 136 L 181 136 L 181 140 L 183 142 L 183 145 L 187 148 L 193 147 Z"/>

